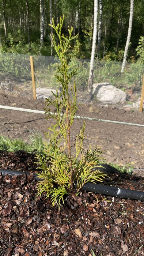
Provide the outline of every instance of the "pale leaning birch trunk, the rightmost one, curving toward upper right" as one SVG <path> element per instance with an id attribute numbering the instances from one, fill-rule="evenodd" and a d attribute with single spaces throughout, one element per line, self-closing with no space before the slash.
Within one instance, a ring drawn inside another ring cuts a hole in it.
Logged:
<path id="1" fill-rule="evenodd" d="M 125 68 L 126 57 L 127 57 L 127 53 L 128 53 L 129 42 L 130 42 L 130 36 L 131 36 L 131 31 L 132 31 L 132 22 L 133 22 L 133 2 L 134 2 L 134 0 L 130 0 L 129 29 L 128 29 L 128 36 L 127 36 L 126 45 L 125 45 L 124 60 L 123 60 L 123 62 L 122 62 L 121 73 L 124 71 L 124 68 Z"/>

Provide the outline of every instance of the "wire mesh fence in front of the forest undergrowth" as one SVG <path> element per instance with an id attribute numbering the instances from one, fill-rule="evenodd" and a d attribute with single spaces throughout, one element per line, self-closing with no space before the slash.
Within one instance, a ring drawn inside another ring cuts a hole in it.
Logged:
<path id="1" fill-rule="evenodd" d="M 60 63 L 58 58 L 33 56 L 33 61 L 36 89 L 37 87 L 60 89 L 61 85 L 56 82 L 54 76 Z M 75 76 L 77 90 L 87 94 L 90 60 L 72 59 L 71 64 L 74 68 L 78 67 Z M 110 83 L 121 90 L 136 90 L 140 95 L 144 65 L 127 63 L 123 74 L 121 74 L 121 65 L 120 62 L 95 60 L 94 83 Z M 0 89 L 33 94 L 29 55 L 0 53 Z"/>

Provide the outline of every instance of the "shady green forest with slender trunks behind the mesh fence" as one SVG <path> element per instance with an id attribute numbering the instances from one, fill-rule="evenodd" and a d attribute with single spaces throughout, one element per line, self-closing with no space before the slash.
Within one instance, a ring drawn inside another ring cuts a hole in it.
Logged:
<path id="1" fill-rule="evenodd" d="M 122 61 L 128 35 L 130 0 L 99 0 L 95 57 Z M 94 1 L 90 0 L 0 0 L 0 52 L 53 55 L 50 44 L 52 17 L 58 23 L 65 14 L 63 32 L 73 26 L 79 38 L 73 56 L 90 59 Z M 132 33 L 127 60 L 140 57 L 139 39 L 144 44 L 144 0 L 134 0 Z"/>

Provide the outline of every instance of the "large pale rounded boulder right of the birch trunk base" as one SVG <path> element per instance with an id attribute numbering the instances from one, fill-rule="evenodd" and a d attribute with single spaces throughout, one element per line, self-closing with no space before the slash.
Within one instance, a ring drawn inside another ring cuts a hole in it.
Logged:
<path id="1" fill-rule="evenodd" d="M 104 104 L 123 104 L 126 101 L 126 93 L 109 83 L 93 84 L 93 95 Z"/>

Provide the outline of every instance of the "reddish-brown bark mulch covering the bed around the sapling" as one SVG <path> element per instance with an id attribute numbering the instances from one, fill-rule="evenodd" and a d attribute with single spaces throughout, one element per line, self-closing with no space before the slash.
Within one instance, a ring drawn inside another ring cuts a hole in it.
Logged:
<path id="1" fill-rule="evenodd" d="M 0 168 L 35 172 L 34 157 L 1 151 Z M 143 177 L 111 177 L 105 184 L 144 191 Z M 144 202 L 81 191 L 58 211 L 32 175 L 0 176 L 0 256 L 142 256 L 143 244 Z"/>

